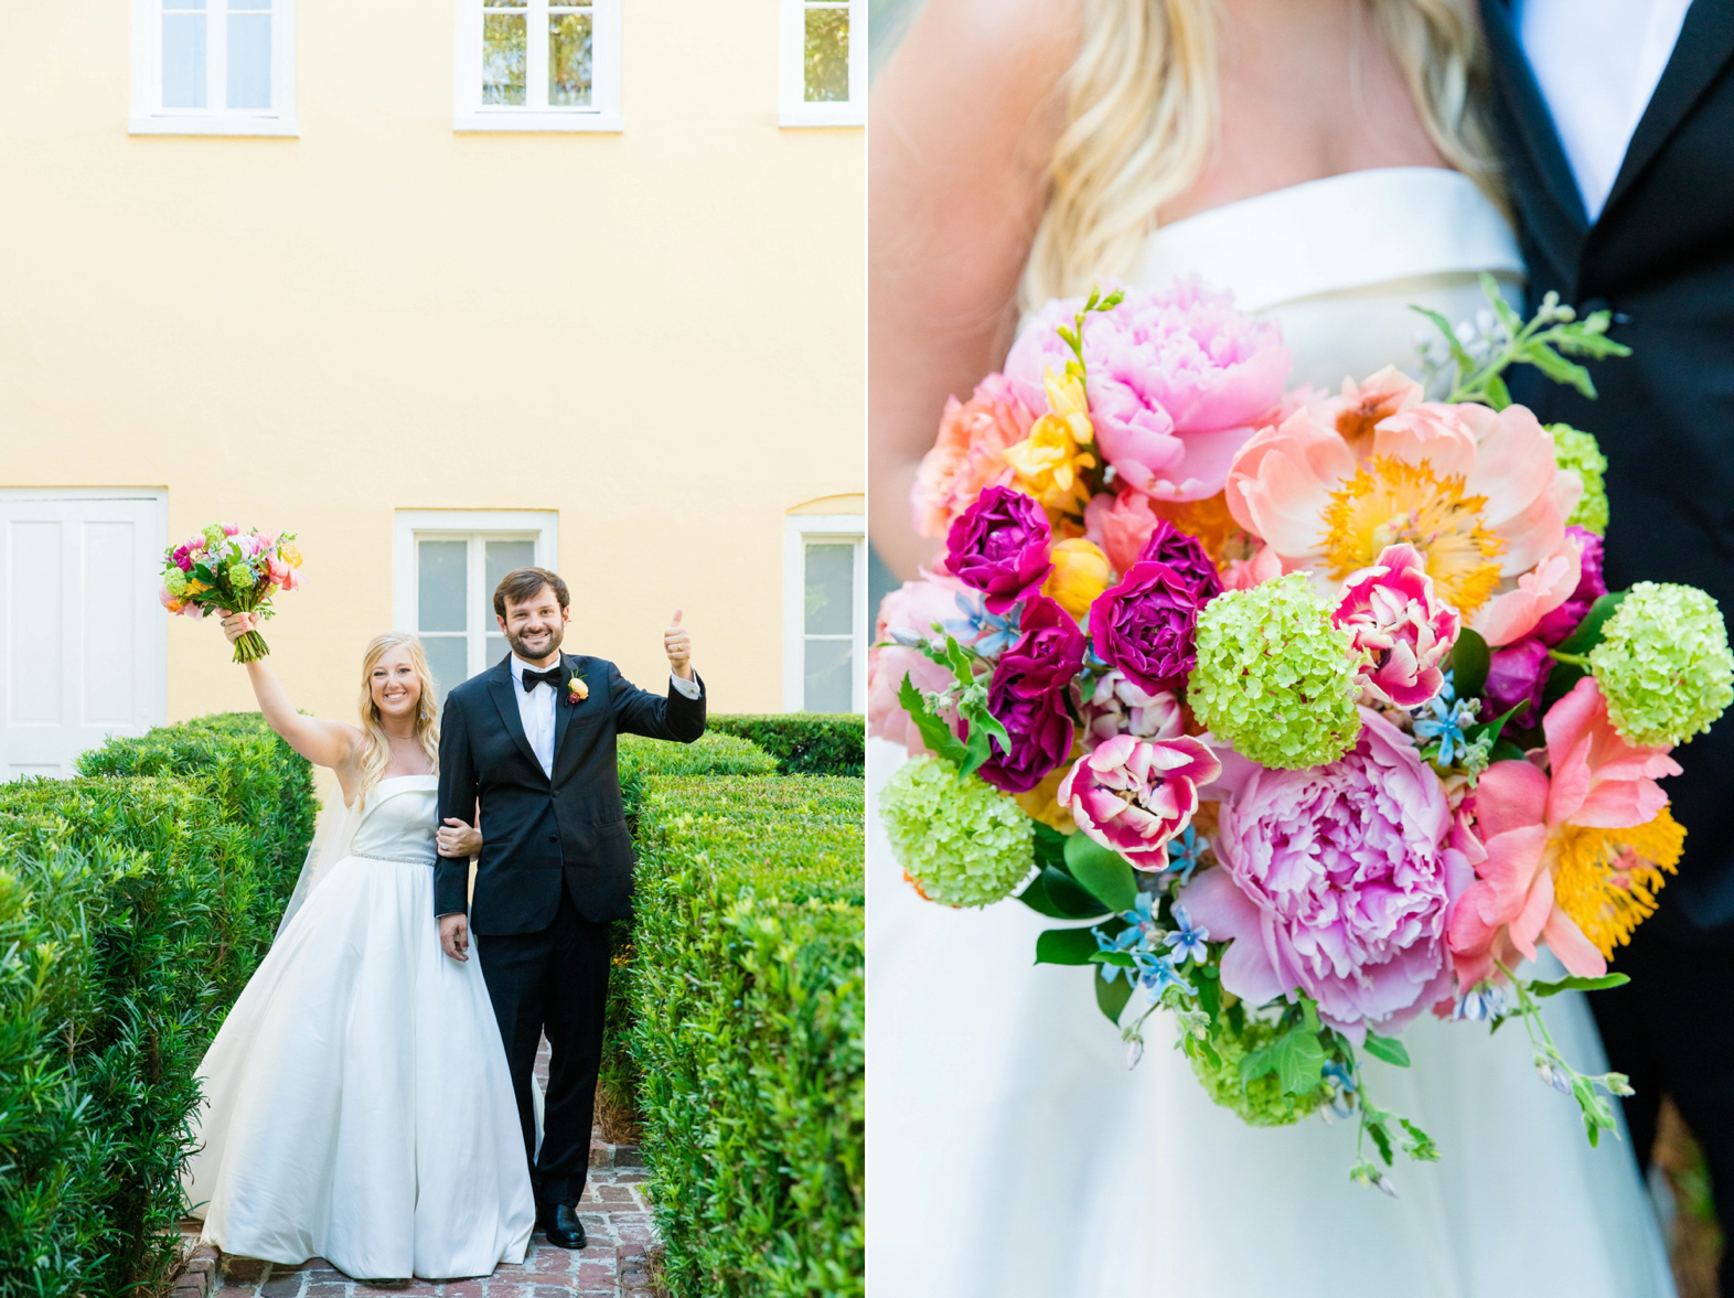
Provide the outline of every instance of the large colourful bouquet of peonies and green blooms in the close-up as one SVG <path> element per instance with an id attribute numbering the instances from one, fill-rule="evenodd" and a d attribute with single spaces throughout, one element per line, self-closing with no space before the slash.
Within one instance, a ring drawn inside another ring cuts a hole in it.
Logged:
<path id="1" fill-rule="evenodd" d="M 1216 1102 L 1359 1114 L 1353 1175 L 1387 1191 L 1437 1152 L 1359 1057 L 1408 1066 L 1422 1012 L 1521 1017 L 1613 1128 L 1625 1078 L 1578 1073 L 1538 1000 L 1625 981 L 1684 840 L 1670 749 L 1734 698 L 1715 601 L 1607 591 L 1606 461 L 1502 380 L 1594 395 L 1568 355 L 1625 352 L 1606 312 L 1486 288 L 1483 336 L 1434 317 L 1443 400 L 1394 369 L 1285 392 L 1278 326 L 1196 284 L 1049 303 L 947 404 L 912 492 L 945 549 L 870 655 L 909 882 L 1068 922 L 1037 960 L 1099 969 L 1132 1062 L 1170 1010 Z M 1568 977 L 1524 976 L 1542 946 Z"/>

